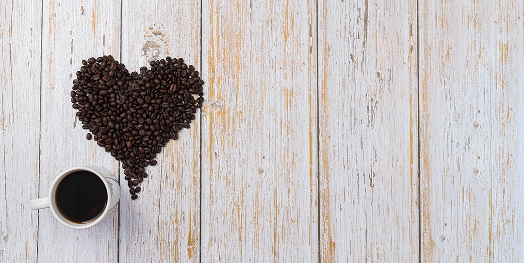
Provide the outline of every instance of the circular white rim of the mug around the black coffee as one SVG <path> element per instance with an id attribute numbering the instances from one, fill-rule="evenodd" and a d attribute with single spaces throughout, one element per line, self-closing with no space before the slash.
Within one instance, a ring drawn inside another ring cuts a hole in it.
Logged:
<path id="1" fill-rule="evenodd" d="M 89 172 L 95 174 L 96 176 L 98 176 L 104 182 L 105 190 L 107 191 L 107 201 L 106 201 L 106 204 L 105 204 L 105 207 L 104 207 L 104 211 L 102 211 L 102 213 L 100 213 L 100 215 L 95 220 L 93 220 L 93 221 L 91 221 L 89 223 L 74 223 L 74 222 L 71 222 L 68 219 L 66 219 L 60 213 L 60 211 L 58 211 L 58 206 L 57 206 L 57 202 L 56 202 L 56 191 L 57 191 L 58 184 L 64 177 L 72 174 L 75 171 L 89 171 Z M 56 178 L 54 178 L 54 180 L 53 180 L 53 182 L 51 184 L 51 187 L 49 188 L 49 209 L 51 210 L 51 213 L 54 215 L 54 218 L 56 218 L 58 220 L 58 222 L 60 222 L 61 224 L 65 225 L 67 227 L 73 228 L 73 229 L 85 229 L 85 228 L 89 228 L 89 227 L 97 224 L 102 219 L 104 219 L 105 215 L 110 210 L 110 205 L 109 204 L 111 203 L 111 198 L 112 198 L 111 197 L 111 187 L 108 184 L 107 179 L 99 171 L 97 171 L 97 170 L 95 170 L 95 169 L 93 169 L 91 167 L 87 167 L 87 166 L 76 166 L 76 167 L 72 167 L 72 168 L 69 168 L 67 170 L 62 171 L 62 173 L 60 173 Z"/>

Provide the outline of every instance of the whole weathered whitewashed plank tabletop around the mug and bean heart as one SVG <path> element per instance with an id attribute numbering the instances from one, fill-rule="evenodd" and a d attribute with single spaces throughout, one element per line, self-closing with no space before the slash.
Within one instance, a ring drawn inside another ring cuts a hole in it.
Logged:
<path id="1" fill-rule="evenodd" d="M 0 1 L 0 262 L 524 260 L 524 3 Z M 204 107 L 138 200 L 75 119 L 81 60 L 167 55 Z M 31 211 L 101 165 L 118 210 Z"/>

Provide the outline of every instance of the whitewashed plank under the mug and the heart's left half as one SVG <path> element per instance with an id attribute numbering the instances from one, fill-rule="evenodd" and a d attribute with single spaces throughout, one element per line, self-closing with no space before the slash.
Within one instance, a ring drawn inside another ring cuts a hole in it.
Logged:
<path id="1" fill-rule="evenodd" d="M 76 119 L 69 95 L 82 59 L 120 51 L 121 5 L 104 3 L 43 4 L 40 197 L 47 196 L 54 177 L 73 166 L 100 165 L 118 173 L 113 157 L 85 140 L 88 131 Z M 87 230 L 71 230 L 51 211 L 40 212 L 39 262 L 115 262 L 117 246 L 118 211 Z"/>

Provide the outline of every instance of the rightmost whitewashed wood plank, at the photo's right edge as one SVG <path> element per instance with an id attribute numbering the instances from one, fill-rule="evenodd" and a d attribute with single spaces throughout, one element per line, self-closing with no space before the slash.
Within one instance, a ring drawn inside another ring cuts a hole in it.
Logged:
<path id="1" fill-rule="evenodd" d="M 422 261 L 521 261 L 523 3 L 419 10 Z"/>

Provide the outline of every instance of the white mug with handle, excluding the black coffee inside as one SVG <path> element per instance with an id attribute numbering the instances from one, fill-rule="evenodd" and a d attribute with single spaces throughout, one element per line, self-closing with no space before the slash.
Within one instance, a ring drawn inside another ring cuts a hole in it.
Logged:
<path id="1" fill-rule="evenodd" d="M 107 202 L 105 204 L 105 208 L 95 219 L 86 222 L 86 223 L 76 223 L 68 220 L 65 218 L 62 213 L 58 210 L 58 204 L 56 200 L 57 196 L 57 189 L 60 185 L 60 182 L 67 177 L 68 175 L 71 175 L 73 173 L 76 173 L 78 171 L 89 171 L 98 177 L 102 179 L 104 182 L 105 188 L 107 190 Z M 29 205 L 32 210 L 42 209 L 42 208 L 50 208 L 51 213 L 53 213 L 54 218 L 58 220 L 58 222 L 62 223 L 65 226 L 74 228 L 74 229 L 84 229 L 91 227 L 93 225 L 96 225 L 102 219 L 104 219 L 107 214 L 109 214 L 118 204 L 118 201 L 120 199 L 120 186 L 118 184 L 117 179 L 115 178 L 114 174 L 111 173 L 111 171 L 103 168 L 103 167 L 87 167 L 87 166 L 79 166 L 79 167 L 73 167 L 71 169 L 67 169 L 63 171 L 60 175 L 57 176 L 57 178 L 54 179 L 53 183 L 51 184 L 51 187 L 49 189 L 49 196 L 39 199 L 34 199 L 29 201 Z"/>

